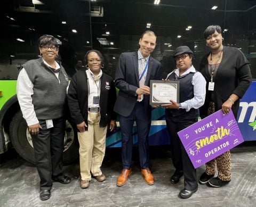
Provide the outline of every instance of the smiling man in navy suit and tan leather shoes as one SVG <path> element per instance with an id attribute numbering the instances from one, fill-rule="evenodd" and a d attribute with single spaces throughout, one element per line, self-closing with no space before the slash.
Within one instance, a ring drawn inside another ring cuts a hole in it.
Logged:
<path id="1" fill-rule="evenodd" d="M 139 40 L 137 52 L 122 53 L 116 70 L 115 85 L 119 94 L 114 111 L 119 114 L 122 133 L 123 170 L 117 179 L 117 186 L 126 183 L 132 172 L 133 123 L 138 129 L 138 147 L 141 173 L 149 185 L 154 184 L 154 177 L 149 170 L 148 134 L 151 123 L 149 105 L 150 80 L 158 80 L 161 64 L 150 57 L 156 47 L 156 35 L 145 31 Z"/>

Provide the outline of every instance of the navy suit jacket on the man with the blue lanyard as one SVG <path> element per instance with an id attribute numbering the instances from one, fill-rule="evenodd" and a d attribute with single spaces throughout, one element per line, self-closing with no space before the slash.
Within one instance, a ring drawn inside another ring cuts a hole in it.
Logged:
<path id="1" fill-rule="evenodd" d="M 148 71 L 145 85 L 150 87 L 150 80 L 158 80 L 161 63 L 149 57 Z M 138 95 L 139 88 L 139 70 L 138 70 L 138 52 L 122 53 L 119 57 L 116 69 L 115 85 L 119 89 L 114 111 L 127 117 L 131 114 Z M 148 119 L 151 119 L 151 106 L 149 105 L 149 95 L 143 95 L 145 110 Z"/>

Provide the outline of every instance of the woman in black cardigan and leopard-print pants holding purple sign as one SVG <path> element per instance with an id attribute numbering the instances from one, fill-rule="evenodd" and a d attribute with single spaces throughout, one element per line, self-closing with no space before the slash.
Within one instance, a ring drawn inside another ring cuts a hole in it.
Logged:
<path id="1" fill-rule="evenodd" d="M 236 118 L 239 99 L 252 81 L 249 62 L 239 49 L 222 45 L 220 26 L 207 27 L 204 38 L 211 52 L 203 56 L 199 67 L 199 72 L 207 82 L 205 103 L 200 108 L 200 116 L 205 118 L 221 109 L 224 114 L 232 110 Z M 214 178 L 216 165 L 218 176 Z M 231 180 L 230 151 L 207 162 L 205 167 L 199 179 L 200 184 L 209 183 L 211 187 L 228 184 Z"/>

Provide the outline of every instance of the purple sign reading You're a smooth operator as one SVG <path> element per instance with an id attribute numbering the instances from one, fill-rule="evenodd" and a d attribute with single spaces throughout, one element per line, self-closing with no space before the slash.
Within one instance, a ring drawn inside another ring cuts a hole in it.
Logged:
<path id="1" fill-rule="evenodd" d="M 195 168 L 244 142 L 232 111 L 219 110 L 178 135 Z"/>

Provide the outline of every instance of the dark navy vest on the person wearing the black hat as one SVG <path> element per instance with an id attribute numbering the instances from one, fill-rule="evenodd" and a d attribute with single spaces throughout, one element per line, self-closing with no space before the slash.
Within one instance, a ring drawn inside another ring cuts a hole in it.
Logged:
<path id="1" fill-rule="evenodd" d="M 195 74 L 194 72 L 190 72 L 186 76 L 176 78 L 175 73 L 173 72 L 168 78 L 169 80 L 177 80 L 180 82 L 180 100 L 179 100 L 180 103 L 185 102 L 194 97 L 194 86 L 191 84 L 194 74 Z M 166 110 L 168 111 L 170 110 L 173 117 L 177 117 L 178 115 L 181 115 L 181 114 L 187 114 L 186 118 L 193 119 L 198 116 L 198 110 L 194 108 L 190 109 L 188 112 L 186 111 L 186 109 L 179 109 L 179 110 L 166 109 Z"/>

